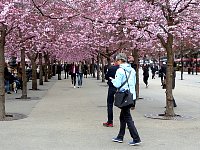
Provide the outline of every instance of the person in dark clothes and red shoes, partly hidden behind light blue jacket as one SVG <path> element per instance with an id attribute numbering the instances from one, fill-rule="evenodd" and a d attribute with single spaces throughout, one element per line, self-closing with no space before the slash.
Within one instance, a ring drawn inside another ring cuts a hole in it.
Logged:
<path id="1" fill-rule="evenodd" d="M 105 79 L 108 80 L 108 95 L 107 95 L 107 122 L 103 123 L 105 127 L 113 127 L 113 103 L 114 103 L 114 95 L 117 91 L 117 88 L 112 84 L 111 78 L 115 78 L 115 73 L 119 68 L 118 64 L 114 64 L 113 66 L 109 67 L 106 74 Z"/>

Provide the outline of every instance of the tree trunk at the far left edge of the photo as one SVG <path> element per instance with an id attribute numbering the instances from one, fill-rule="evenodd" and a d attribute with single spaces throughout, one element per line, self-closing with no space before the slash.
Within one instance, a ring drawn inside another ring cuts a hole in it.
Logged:
<path id="1" fill-rule="evenodd" d="M 0 120 L 5 118 L 5 87 L 4 87 L 4 67 L 5 67 L 5 57 L 4 57 L 4 47 L 6 39 L 6 26 L 2 25 L 0 27 Z"/>

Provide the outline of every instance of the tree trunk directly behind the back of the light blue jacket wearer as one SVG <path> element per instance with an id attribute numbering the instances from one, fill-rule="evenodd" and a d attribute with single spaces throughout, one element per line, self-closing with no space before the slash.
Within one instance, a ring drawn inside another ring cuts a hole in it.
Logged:
<path id="1" fill-rule="evenodd" d="M 134 65 L 136 65 L 136 85 L 135 85 L 135 88 L 136 88 L 136 99 L 139 99 L 139 94 L 140 94 L 140 85 L 139 85 L 139 63 L 138 63 L 138 60 L 139 60 L 139 55 L 138 55 L 138 49 L 134 49 L 133 52 L 133 58 L 134 58 Z"/>

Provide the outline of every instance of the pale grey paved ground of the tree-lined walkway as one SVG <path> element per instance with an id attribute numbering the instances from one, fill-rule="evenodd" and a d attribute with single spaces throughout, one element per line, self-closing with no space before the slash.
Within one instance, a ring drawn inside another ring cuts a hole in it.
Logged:
<path id="1" fill-rule="evenodd" d="M 111 142 L 119 130 L 119 110 L 114 109 L 114 127 L 105 128 L 107 86 L 93 78 L 84 79 L 83 88 L 74 89 L 70 80 L 51 79 L 40 91 L 28 91 L 29 101 L 17 100 L 20 92 L 7 95 L 6 111 L 28 117 L 0 122 L 0 150 L 199 150 L 200 75 L 177 73 L 175 112 L 194 119 L 156 120 L 144 114 L 163 113 L 165 91 L 160 79 L 150 79 L 149 88 L 140 84 L 140 97 L 132 112 L 143 144 L 129 146 Z M 29 83 L 30 84 L 30 83 Z M 29 85 L 30 86 L 30 85 Z"/>

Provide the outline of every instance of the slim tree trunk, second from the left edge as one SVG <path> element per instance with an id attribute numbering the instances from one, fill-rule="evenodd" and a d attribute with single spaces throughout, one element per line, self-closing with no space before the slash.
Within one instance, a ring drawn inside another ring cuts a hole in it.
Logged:
<path id="1" fill-rule="evenodd" d="M 22 64 L 22 96 L 21 99 L 27 99 L 27 77 L 25 69 L 25 48 L 21 48 L 21 64 Z"/>

